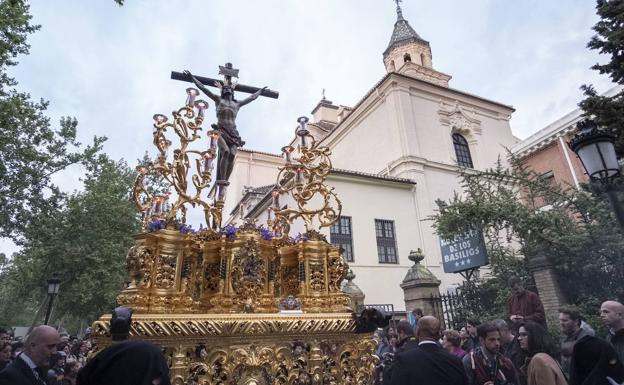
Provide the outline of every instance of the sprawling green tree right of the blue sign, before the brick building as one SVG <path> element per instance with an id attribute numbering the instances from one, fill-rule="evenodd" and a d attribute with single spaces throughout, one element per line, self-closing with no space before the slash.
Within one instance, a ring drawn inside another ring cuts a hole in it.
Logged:
<path id="1" fill-rule="evenodd" d="M 532 282 L 527 264 L 536 255 L 566 277 L 559 283 L 568 302 L 587 315 L 597 316 L 602 300 L 624 298 L 624 237 L 607 202 L 541 178 L 513 157 L 509 168 L 499 161 L 461 179 L 463 194 L 432 219 L 445 239 L 470 226 L 483 230 L 492 277 L 476 285 L 491 298 L 491 315 L 504 313 L 511 275 Z"/>

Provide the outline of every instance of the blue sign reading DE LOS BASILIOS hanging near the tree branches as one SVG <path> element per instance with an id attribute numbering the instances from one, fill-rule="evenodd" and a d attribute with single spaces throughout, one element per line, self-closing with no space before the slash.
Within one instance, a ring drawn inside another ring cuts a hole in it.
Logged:
<path id="1" fill-rule="evenodd" d="M 442 266 L 445 273 L 458 273 L 489 263 L 483 235 L 470 229 L 451 240 L 440 239 Z"/>

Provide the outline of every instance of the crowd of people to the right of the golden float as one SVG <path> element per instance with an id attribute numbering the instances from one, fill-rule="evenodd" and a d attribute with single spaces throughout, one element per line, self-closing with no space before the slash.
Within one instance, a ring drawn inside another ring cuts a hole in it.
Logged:
<path id="1" fill-rule="evenodd" d="M 620 385 L 624 383 L 624 305 L 606 301 L 602 339 L 574 307 L 559 309 L 561 340 L 546 329 L 537 294 L 510 280 L 508 318 L 467 320 L 441 330 L 421 309 L 375 333 L 377 385 Z"/>

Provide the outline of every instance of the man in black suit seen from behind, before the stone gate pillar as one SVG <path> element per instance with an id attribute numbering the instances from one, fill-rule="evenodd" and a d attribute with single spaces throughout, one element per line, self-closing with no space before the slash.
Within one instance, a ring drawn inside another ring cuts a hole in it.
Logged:
<path id="1" fill-rule="evenodd" d="M 395 357 L 390 385 L 468 385 L 461 360 L 438 345 L 440 321 L 425 316 L 416 324 L 418 347 Z"/>

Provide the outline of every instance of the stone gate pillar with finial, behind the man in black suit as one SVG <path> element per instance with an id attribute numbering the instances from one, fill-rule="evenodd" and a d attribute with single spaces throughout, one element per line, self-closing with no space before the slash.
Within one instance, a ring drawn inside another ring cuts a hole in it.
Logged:
<path id="1" fill-rule="evenodd" d="M 420 264 L 425 256 L 421 249 L 411 251 L 409 260 L 414 262 L 403 282 L 403 297 L 405 300 L 405 311 L 409 312 L 415 308 L 420 308 L 425 315 L 436 314 L 432 297 L 440 297 L 440 280 L 429 269 Z"/>

